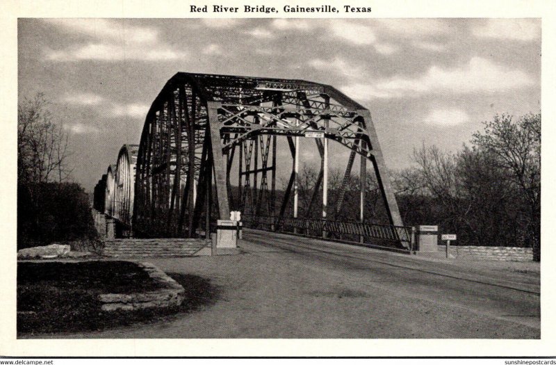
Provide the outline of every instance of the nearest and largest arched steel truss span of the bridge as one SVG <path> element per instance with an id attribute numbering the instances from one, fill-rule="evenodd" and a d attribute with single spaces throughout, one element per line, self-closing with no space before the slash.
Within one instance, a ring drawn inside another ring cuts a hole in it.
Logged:
<path id="1" fill-rule="evenodd" d="M 287 138 L 293 166 L 284 198 L 276 204 L 277 136 Z M 361 221 L 366 163 L 372 163 L 390 224 L 402 226 L 366 108 L 318 83 L 180 72 L 147 113 L 137 160 L 134 231 L 142 236 L 195 236 L 203 216 L 205 222 L 211 219 L 212 206 L 221 219 L 229 218 L 231 208 L 245 213 L 249 206 L 247 213 L 279 222 L 291 204 L 292 190 L 295 195 L 297 140 L 303 137 L 316 137 L 326 162 L 322 166 L 327 165 L 329 141 L 350 149 L 343 188 L 355 156 L 361 156 Z M 240 181 L 235 192 L 230 183 L 234 156 Z M 321 167 L 315 188 L 322 185 L 323 218 L 332 213 L 326 202 L 326 175 L 327 168 Z M 343 201 L 343 190 L 337 204 Z"/>

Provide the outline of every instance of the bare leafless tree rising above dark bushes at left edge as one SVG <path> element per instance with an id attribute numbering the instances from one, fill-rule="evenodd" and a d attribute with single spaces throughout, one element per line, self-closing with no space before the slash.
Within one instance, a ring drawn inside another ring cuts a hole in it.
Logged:
<path id="1" fill-rule="evenodd" d="M 17 107 L 17 178 L 22 183 L 62 182 L 70 175 L 67 133 L 53 121 L 42 93 Z"/>

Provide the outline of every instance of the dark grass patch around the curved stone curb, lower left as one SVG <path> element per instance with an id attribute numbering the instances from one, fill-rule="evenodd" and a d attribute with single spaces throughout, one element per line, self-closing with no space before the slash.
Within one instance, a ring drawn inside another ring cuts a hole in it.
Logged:
<path id="1" fill-rule="evenodd" d="M 99 264 L 97 270 L 92 263 Z M 63 269 L 56 268 L 56 264 Z M 215 302 L 217 291 L 208 279 L 168 275 L 186 291 L 186 299 L 179 307 L 102 311 L 97 300 L 100 293 L 136 293 L 156 290 L 159 286 L 136 264 L 127 261 L 19 263 L 17 335 L 92 332 L 133 323 L 171 321 L 180 314 Z"/>

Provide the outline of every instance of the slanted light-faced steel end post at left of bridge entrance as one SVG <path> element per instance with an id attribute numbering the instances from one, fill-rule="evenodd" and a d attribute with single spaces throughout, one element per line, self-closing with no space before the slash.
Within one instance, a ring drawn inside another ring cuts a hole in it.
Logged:
<path id="1" fill-rule="evenodd" d="M 211 133 L 211 151 L 214 179 L 216 184 L 216 199 L 218 200 L 218 213 L 220 219 L 227 219 L 230 216 L 228 194 L 226 188 L 226 161 L 222 154 L 222 143 L 220 142 L 220 122 L 218 120 L 218 108 L 220 103 L 207 102 L 208 127 L 207 132 Z"/>

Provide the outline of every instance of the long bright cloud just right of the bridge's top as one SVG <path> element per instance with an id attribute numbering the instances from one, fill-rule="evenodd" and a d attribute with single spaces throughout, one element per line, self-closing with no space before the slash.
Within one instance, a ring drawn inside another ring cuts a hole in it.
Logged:
<path id="1" fill-rule="evenodd" d="M 484 58 L 471 58 L 464 67 L 432 66 L 425 74 L 407 78 L 393 76 L 374 84 L 355 83 L 342 88 L 355 99 L 417 96 L 424 93 L 503 92 L 534 84 L 531 76 Z"/>

